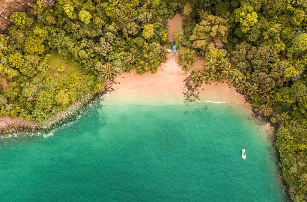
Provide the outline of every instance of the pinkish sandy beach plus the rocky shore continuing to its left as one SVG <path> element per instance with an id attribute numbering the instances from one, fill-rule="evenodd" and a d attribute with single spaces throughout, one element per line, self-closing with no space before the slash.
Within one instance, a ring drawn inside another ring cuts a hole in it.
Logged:
<path id="1" fill-rule="evenodd" d="M 188 91 L 184 82 L 189 77 L 189 72 L 185 72 L 176 62 L 176 57 L 169 54 L 168 59 L 157 70 L 157 73 L 149 72 L 138 75 L 135 70 L 121 73 L 116 77 L 114 82 L 105 85 L 98 93 L 87 94 L 82 101 L 76 101 L 65 111 L 54 114 L 54 118 L 50 118 L 44 123 L 35 121 L 26 121 L 25 119 L 14 119 L 9 116 L 2 116 L 0 119 L 0 134 L 2 137 L 18 136 L 29 134 L 32 132 L 48 132 L 53 128 L 60 127 L 66 122 L 72 121 L 80 116 L 88 104 L 95 102 L 99 97 L 111 93 L 114 100 L 125 100 L 135 97 L 138 100 L 160 100 L 163 103 L 184 103 L 188 102 L 185 98 L 185 92 Z M 195 62 L 196 66 L 203 65 L 203 61 Z M 251 105 L 243 95 L 235 90 L 233 85 L 227 81 L 223 83 L 212 82 L 210 84 L 202 84 L 198 88 L 198 102 L 212 103 L 235 103 L 246 106 L 252 113 Z M 173 101 L 172 101 L 173 100 Z M 82 112 L 82 113 L 81 113 Z M 19 132 L 19 133 L 18 133 Z"/>

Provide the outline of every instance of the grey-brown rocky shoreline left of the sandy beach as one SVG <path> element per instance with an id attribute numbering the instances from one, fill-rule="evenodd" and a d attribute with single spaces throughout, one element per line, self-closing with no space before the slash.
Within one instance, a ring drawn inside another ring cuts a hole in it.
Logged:
<path id="1" fill-rule="evenodd" d="M 21 118 L 10 118 L 9 116 L 0 117 L 0 139 L 16 136 L 32 136 L 33 133 L 48 133 L 51 130 L 62 126 L 63 124 L 80 119 L 85 108 L 96 99 L 112 92 L 113 83 L 105 84 L 105 87 L 97 93 L 84 95 L 82 101 L 72 103 L 66 110 L 59 111 L 53 115 L 54 118 L 37 123 L 35 121 L 26 121 Z M 52 136 L 52 134 L 50 134 Z"/>

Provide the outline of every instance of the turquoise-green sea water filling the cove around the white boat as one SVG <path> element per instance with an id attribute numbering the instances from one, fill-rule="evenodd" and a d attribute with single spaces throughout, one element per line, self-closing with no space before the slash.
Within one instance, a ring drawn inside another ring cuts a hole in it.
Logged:
<path id="1" fill-rule="evenodd" d="M 269 138 L 231 104 L 104 102 L 54 134 L 0 141 L 0 201 L 286 201 Z"/>

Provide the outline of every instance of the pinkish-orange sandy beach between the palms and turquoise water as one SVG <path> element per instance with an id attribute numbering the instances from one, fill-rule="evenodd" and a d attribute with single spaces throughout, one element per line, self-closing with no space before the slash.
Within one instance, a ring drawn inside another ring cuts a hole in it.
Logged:
<path id="1" fill-rule="evenodd" d="M 203 59 L 198 59 L 203 60 Z M 203 65 L 203 61 L 195 63 L 197 66 Z M 164 103 L 184 102 L 185 83 L 189 76 L 176 62 L 176 56 L 168 53 L 166 63 L 162 64 L 157 73 L 147 72 L 137 75 L 135 70 L 124 72 L 116 77 L 116 84 L 113 85 L 115 92 L 110 97 L 112 100 L 133 100 L 134 102 L 144 102 L 151 100 Z M 226 83 L 203 84 L 199 87 L 199 102 L 214 103 L 237 103 L 250 107 L 245 102 L 244 96 L 235 91 L 235 87 Z"/>

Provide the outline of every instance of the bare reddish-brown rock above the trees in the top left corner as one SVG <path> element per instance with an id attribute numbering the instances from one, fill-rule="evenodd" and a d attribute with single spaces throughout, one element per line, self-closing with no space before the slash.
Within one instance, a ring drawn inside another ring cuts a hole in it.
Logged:
<path id="1" fill-rule="evenodd" d="M 41 0 L 53 6 L 55 0 Z M 10 15 L 14 11 L 24 12 L 29 7 L 31 7 L 36 0 L 0 0 L 0 32 L 7 30 L 12 21 L 10 20 Z"/>

